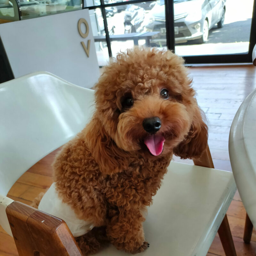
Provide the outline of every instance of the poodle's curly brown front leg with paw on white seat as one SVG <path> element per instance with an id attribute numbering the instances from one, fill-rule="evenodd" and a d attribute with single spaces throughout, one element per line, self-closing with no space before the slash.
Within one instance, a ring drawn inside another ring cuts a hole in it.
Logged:
<path id="1" fill-rule="evenodd" d="M 111 244 L 118 250 L 132 254 L 143 252 L 149 247 L 145 241 L 142 222 L 145 218 L 140 211 L 120 211 L 107 224 L 107 236 Z"/>

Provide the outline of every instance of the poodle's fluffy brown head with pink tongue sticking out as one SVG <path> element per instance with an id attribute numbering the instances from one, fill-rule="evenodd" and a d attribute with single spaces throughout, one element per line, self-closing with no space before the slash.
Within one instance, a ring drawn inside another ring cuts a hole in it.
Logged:
<path id="1" fill-rule="evenodd" d="M 111 60 L 96 85 L 96 113 L 124 151 L 145 156 L 200 156 L 207 126 L 183 59 L 135 47 Z"/>

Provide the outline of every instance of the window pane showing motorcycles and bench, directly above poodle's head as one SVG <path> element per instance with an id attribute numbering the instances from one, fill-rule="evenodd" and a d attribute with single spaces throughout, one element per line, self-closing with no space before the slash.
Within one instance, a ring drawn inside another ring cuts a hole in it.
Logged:
<path id="1" fill-rule="evenodd" d="M 166 46 L 165 6 L 161 1 L 127 4 L 122 10 L 118 7 L 105 9 L 113 56 L 133 45 Z M 164 10 L 163 16 L 157 15 L 159 9 Z"/>

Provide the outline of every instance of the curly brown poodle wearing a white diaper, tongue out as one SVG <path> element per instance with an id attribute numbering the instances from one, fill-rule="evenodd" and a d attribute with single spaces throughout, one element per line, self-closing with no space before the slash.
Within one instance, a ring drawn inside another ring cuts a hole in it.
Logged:
<path id="1" fill-rule="evenodd" d="M 75 223 L 72 233 L 84 255 L 108 242 L 130 253 L 147 249 L 146 208 L 173 154 L 195 158 L 205 150 L 207 126 L 183 64 L 173 52 L 156 48 L 117 54 L 95 85 L 91 121 L 57 156 L 57 196 L 40 204 L 48 204 L 46 212 L 64 209 L 52 213 L 70 222 L 71 232 Z"/>

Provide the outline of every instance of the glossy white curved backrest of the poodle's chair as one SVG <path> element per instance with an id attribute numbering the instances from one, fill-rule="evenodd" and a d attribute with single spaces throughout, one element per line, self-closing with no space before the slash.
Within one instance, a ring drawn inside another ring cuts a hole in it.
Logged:
<path id="1" fill-rule="evenodd" d="M 94 91 L 46 72 L 0 84 L 0 194 L 33 164 L 81 131 Z"/>

